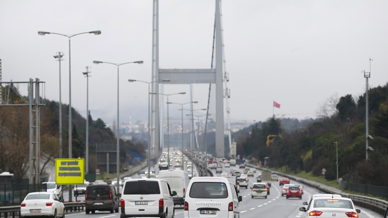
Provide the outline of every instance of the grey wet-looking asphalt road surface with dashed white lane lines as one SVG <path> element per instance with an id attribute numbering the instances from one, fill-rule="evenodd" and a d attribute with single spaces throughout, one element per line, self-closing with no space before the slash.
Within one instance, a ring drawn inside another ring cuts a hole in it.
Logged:
<path id="1" fill-rule="evenodd" d="M 231 168 L 239 168 L 239 165 L 232 166 Z M 243 172 L 243 169 L 240 169 Z M 223 172 L 230 173 L 230 168 L 223 168 Z M 215 170 L 213 170 L 215 173 Z M 239 195 L 242 196 L 242 202 L 240 202 L 240 216 L 242 218 L 251 218 L 251 217 L 262 217 L 262 218 L 303 218 L 303 212 L 299 211 L 300 207 L 303 207 L 302 204 L 304 201 L 308 201 L 313 194 L 320 193 L 318 190 L 304 186 L 304 194 L 302 199 L 298 198 L 289 198 L 286 199 L 286 196 L 281 196 L 281 186 L 279 182 L 272 181 L 272 187 L 270 187 L 270 195 L 267 199 L 263 197 L 251 198 L 251 190 L 249 187 L 256 182 L 256 176 L 260 174 L 261 171 L 257 170 L 255 176 L 249 177 L 248 189 L 240 189 Z M 187 175 L 187 174 L 186 174 Z M 220 174 L 217 173 L 217 176 Z M 189 178 L 186 176 L 186 188 L 189 183 Z M 296 181 L 291 180 L 290 183 L 296 184 Z M 366 210 L 364 208 L 357 207 L 361 210 L 360 218 L 378 218 L 380 215 Z M 71 218 L 119 218 L 120 213 L 110 214 L 109 212 L 99 212 L 96 211 L 95 214 L 86 215 L 83 213 L 69 214 L 66 215 Z M 175 218 L 184 218 L 183 215 L 183 206 L 175 206 Z"/>

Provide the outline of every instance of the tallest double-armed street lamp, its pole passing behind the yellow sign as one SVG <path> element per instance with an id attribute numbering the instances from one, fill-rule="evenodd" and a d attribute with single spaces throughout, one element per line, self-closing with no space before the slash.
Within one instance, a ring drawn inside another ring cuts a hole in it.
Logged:
<path id="1" fill-rule="evenodd" d="M 101 31 L 96 30 L 96 31 L 90 31 L 90 32 L 85 32 L 85 33 L 77 33 L 74 35 L 65 35 L 61 33 L 50 33 L 50 32 L 45 32 L 45 31 L 38 31 L 38 35 L 44 36 L 46 34 L 55 34 L 55 35 L 61 35 L 61 36 L 66 36 L 69 38 L 69 158 L 72 158 L 72 123 L 71 123 L 71 46 L 70 46 L 70 39 L 73 36 L 81 35 L 81 34 L 86 34 L 86 33 L 93 33 L 94 35 L 100 35 Z M 69 185 L 69 202 L 73 201 L 73 197 L 71 195 L 71 190 L 72 187 Z"/>

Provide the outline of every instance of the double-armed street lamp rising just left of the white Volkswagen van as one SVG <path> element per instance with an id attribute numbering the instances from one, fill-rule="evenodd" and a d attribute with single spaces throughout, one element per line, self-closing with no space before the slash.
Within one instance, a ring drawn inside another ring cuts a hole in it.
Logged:
<path id="1" fill-rule="evenodd" d="M 119 121 L 119 67 L 124 64 L 142 64 L 143 61 L 132 61 L 121 64 L 116 64 L 112 62 L 104 62 L 104 61 L 93 61 L 94 64 L 113 64 L 117 66 L 117 128 L 116 128 L 116 172 L 117 172 L 117 191 L 120 190 L 120 121 Z"/>

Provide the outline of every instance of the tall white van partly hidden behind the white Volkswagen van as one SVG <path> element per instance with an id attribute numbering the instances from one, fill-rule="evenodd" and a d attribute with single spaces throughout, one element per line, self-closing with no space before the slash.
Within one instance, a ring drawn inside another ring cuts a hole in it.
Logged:
<path id="1" fill-rule="evenodd" d="M 171 191 L 177 192 L 173 197 L 174 205 L 185 204 L 185 173 L 183 170 L 161 170 L 159 171 L 159 179 L 164 179 L 170 185 Z"/>

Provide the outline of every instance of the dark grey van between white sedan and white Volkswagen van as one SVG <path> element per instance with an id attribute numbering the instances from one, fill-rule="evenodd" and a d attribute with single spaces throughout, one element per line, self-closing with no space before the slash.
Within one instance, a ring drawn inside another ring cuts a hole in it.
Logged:
<path id="1" fill-rule="evenodd" d="M 120 196 L 113 185 L 88 185 L 85 192 L 85 212 L 110 211 L 118 213 Z"/>

